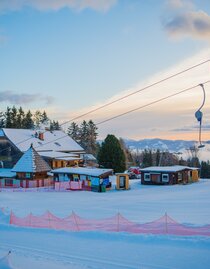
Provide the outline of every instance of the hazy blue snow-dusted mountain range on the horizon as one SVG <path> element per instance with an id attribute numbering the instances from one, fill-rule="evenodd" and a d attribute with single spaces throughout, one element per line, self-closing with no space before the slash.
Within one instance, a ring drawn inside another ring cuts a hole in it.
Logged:
<path id="1" fill-rule="evenodd" d="M 187 151 L 190 147 L 198 144 L 197 141 L 190 140 L 167 140 L 167 139 L 142 139 L 142 140 L 132 140 L 123 139 L 126 146 L 132 151 L 142 151 L 144 149 L 160 149 L 169 152 L 182 153 L 182 158 L 186 159 L 189 157 L 189 152 Z M 203 142 L 204 148 L 199 150 L 199 158 L 201 160 L 210 160 L 210 140 Z"/>

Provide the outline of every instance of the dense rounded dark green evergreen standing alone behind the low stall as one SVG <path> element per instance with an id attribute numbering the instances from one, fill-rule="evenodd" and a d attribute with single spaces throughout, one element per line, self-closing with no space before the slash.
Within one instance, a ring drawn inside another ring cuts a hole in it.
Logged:
<path id="1" fill-rule="evenodd" d="M 114 172 L 126 169 L 125 154 L 119 140 L 114 135 L 107 135 L 98 153 L 99 164 L 105 168 L 112 168 Z"/>

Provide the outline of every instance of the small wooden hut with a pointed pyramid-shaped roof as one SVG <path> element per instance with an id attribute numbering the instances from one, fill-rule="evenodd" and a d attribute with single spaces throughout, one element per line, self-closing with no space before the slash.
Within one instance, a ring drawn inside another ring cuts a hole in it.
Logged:
<path id="1" fill-rule="evenodd" d="M 20 187 L 33 188 L 50 185 L 51 180 L 47 175 L 50 170 L 50 166 L 31 145 L 13 167 L 12 172 L 16 172 Z"/>

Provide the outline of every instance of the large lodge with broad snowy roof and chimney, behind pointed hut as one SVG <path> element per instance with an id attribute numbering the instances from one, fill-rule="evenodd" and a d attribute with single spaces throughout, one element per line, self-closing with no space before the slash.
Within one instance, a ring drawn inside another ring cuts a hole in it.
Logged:
<path id="1" fill-rule="evenodd" d="M 84 149 L 61 130 L 0 129 L 0 167 L 12 168 L 30 145 L 52 169 L 83 164 Z"/>

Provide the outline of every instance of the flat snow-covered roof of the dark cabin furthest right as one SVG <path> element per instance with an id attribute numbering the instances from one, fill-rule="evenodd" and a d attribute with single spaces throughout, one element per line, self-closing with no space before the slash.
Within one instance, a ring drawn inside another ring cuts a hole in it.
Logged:
<path id="1" fill-rule="evenodd" d="M 173 165 L 173 166 L 150 166 L 147 168 L 140 169 L 143 172 L 179 172 L 183 170 L 198 170 L 196 167 Z"/>

